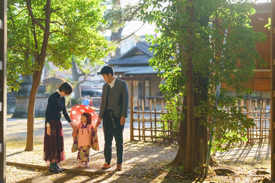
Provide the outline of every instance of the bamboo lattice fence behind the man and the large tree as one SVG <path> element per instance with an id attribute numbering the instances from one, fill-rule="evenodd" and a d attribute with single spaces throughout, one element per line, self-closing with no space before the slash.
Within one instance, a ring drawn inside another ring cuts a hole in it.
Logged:
<path id="1" fill-rule="evenodd" d="M 270 110 L 267 110 L 267 102 L 270 101 L 257 99 L 236 101 L 235 106 L 238 109 L 244 106 L 242 113 L 253 119 L 255 123 L 254 127 L 246 130 L 249 143 L 263 142 L 264 139 L 270 140 Z M 162 100 L 161 110 L 156 110 L 156 99 L 149 100 L 148 109 L 145 109 L 144 104 L 142 99 L 137 100 L 137 106 L 134 106 L 133 96 L 131 97 L 130 140 L 164 143 L 178 141 L 180 123 L 163 120 L 163 115 L 169 113 L 164 109 L 166 102 Z M 230 107 L 225 110 L 229 113 Z"/>

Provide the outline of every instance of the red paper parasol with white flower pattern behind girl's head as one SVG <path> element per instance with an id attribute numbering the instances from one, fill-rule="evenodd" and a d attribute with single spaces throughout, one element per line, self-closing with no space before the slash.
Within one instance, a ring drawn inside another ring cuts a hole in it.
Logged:
<path id="1" fill-rule="evenodd" d="M 73 121 L 73 123 L 78 127 L 79 124 L 81 123 L 80 117 L 83 113 L 91 114 L 92 125 L 95 127 L 95 124 L 97 123 L 98 115 L 94 111 L 94 109 L 84 105 L 77 105 L 71 109 L 71 120 Z"/>

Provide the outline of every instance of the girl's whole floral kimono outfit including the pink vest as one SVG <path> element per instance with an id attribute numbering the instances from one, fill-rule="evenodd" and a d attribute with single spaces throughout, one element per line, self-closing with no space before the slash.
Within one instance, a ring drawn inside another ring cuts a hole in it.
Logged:
<path id="1" fill-rule="evenodd" d="M 95 151 L 99 151 L 97 131 L 91 124 L 82 123 L 79 126 L 79 130 L 76 134 L 73 132 L 73 145 L 71 152 L 76 152 L 78 150 L 77 159 L 82 162 L 90 162 L 90 148 Z"/>

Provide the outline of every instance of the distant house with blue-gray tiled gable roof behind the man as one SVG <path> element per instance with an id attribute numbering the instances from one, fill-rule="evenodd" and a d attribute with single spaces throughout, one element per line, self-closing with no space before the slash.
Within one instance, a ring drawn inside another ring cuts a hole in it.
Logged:
<path id="1" fill-rule="evenodd" d="M 115 76 L 127 82 L 129 96 L 133 95 L 134 100 L 145 99 L 145 107 L 149 106 L 149 99 L 156 99 L 157 105 L 161 105 L 164 99 L 159 90 L 164 79 L 158 77 L 157 71 L 149 66 L 148 60 L 153 57 L 148 52 L 149 46 L 147 42 L 138 42 L 128 52 L 108 63 L 114 68 Z"/>

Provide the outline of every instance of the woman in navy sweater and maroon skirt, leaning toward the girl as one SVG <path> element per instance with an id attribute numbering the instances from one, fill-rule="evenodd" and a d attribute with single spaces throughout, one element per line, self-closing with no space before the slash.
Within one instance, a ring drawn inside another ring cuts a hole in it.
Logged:
<path id="1" fill-rule="evenodd" d="M 77 127 L 71 122 L 65 106 L 65 96 L 72 92 L 71 83 L 60 84 L 58 90 L 48 99 L 46 108 L 46 127 L 44 135 L 44 160 L 50 162 L 49 171 L 61 172 L 64 169 L 58 164 L 65 160 L 61 111 L 73 130 Z"/>

